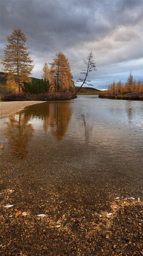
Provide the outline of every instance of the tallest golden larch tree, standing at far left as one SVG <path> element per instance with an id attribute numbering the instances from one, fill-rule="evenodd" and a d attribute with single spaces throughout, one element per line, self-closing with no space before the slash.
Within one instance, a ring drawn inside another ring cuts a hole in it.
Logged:
<path id="1" fill-rule="evenodd" d="M 25 46 L 27 37 L 21 29 L 13 29 L 12 34 L 7 36 L 8 45 L 4 49 L 4 59 L 2 60 L 3 70 L 8 73 L 11 79 L 15 78 L 18 84 L 18 91 L 21 91 L 21 85 L 24 81 L 30 82 L 31 71 L 34 67 L 33 60 L 27 52 L 28 47 Z"/>

